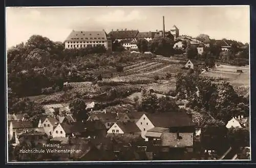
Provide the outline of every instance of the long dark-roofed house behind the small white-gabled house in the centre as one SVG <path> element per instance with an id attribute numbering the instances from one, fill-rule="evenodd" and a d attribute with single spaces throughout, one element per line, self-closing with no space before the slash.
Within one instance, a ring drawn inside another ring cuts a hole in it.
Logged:
<path id="1" fill-rule="evenodd" d="M 107 129 L 109 129 L 116 122 L 128 122 L 130 118 L 126 113 L 103 113 L 90 115 L 87 121 L 101 121 Z"/>

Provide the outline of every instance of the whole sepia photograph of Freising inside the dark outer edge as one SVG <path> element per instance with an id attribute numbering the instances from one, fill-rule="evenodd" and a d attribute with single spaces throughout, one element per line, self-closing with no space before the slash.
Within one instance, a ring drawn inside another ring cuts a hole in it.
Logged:
<path id="1" fill-rule="evenodd" d="M 6 7 L 7 163 L 251 160 L 250 6 Z"/>

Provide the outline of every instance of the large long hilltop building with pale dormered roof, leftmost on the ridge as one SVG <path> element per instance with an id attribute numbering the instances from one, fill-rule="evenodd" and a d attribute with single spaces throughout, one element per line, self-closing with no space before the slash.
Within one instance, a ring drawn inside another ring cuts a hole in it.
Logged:
<path id="1" fill-rule="evenodd" d="M 85 48 L 102 45 L 106 50 L 112 50 L 111 38 L 102 31 L 72 31 L 65 40 L 65 48 Z"/>

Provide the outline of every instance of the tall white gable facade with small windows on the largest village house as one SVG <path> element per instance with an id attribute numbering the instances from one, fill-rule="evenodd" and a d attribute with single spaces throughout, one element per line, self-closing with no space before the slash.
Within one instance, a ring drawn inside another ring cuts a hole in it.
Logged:
<path id="1" fill-rule="evenodd" d="M 136 122 L 136 125 L 141 130 L 141 137 L 144 138 L 147 141 L 147 138 L 145 137 L 146 131 L 154 128 L 155 126 L 153 123 L 146 117 L 145 114 L 141 116 L 141 118 Z"/>

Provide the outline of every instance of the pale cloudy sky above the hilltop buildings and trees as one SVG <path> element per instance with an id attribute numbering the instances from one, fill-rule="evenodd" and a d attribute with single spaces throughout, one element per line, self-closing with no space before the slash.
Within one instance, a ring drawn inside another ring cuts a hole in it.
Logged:
<path id="1" fill-rule="evenodd" d="M 155 32 L 163 30 L 163 16 L 165 31 L 176 25 L 180 35 L 207 34 L 249 43 L 249 11 L 249 6 L 8 7 L 6 45 L 26 42 L 32 35 L 63 42 L 72 30 Z"/>

